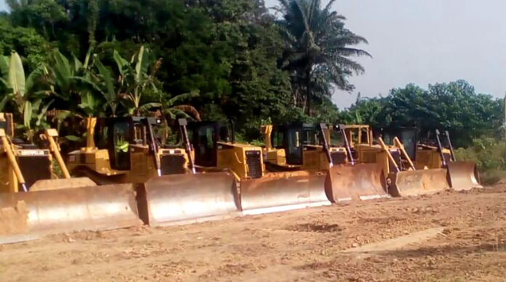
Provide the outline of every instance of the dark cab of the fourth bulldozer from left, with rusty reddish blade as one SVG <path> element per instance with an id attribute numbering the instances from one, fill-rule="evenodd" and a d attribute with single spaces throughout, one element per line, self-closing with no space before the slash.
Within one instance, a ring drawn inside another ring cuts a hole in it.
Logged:
<path id="1" fill-rule="evenodd" d="M 316 126 L 309 123 L 274 126 L 271 134 L 272 146 L 285 150 L 288 165 L 303 165 L 303 151 L 321 144 L 317 140 Z"/>

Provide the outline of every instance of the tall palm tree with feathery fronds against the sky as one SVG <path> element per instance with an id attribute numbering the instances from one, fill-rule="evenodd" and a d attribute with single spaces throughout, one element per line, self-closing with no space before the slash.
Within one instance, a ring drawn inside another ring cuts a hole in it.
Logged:
<path id="1" fill-rule="evenodd" d="M 277 8 L 283 15 L 277 23 L 285 43 L 281 66 L 291 75 L 294 102 L 309 115 L 313 97 L 331 95 L 332 86 L 353 89 L 347 77 L 364 68 L 349 57 L 371 57 L 350 47 L 367 40 L 345 28 L 346 18 L 330 10 L 334 2 L 321 9 L 320 0 L 279 0 Z"/>

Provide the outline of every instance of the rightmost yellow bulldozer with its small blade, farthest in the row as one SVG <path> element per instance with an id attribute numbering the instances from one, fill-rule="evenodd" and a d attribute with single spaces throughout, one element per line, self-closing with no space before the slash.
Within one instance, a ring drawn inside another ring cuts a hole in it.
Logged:
<path id="1" fill-rule="evenodd" d="M 446 169 L 448 184 L 455 191 L 483 187 L 475 162 L 456 161 L 448 130 L 441 132 L 435 129 L 432 136 L 429 131 L 425 143 L 421 142 L 416 127 L 400 127 L 389 131 L 390 135 L 394 131 L 401 136 L 403 143 L 410 144 L 408 154 L 417 169 Z"/>

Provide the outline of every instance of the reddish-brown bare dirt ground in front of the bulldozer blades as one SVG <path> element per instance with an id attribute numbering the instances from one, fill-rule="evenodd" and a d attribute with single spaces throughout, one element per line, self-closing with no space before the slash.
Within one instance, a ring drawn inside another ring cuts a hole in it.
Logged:
<path id="1" fill-rule="evenodd" d="M 0 281 L 505 281 L 506 184 L 0 246 Z"/>

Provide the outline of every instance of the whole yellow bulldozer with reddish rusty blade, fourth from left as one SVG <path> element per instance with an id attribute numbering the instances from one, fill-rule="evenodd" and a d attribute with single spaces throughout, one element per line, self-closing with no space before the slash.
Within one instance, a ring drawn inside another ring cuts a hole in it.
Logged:
<path id="1" fill-rule="evenodd" d="M 381 167 L 355 162 L 343 125 L 299 123 L 261 129 L 266 167 L 325 173 L 325 191 L 331 202 L 389 197 Z"/>

